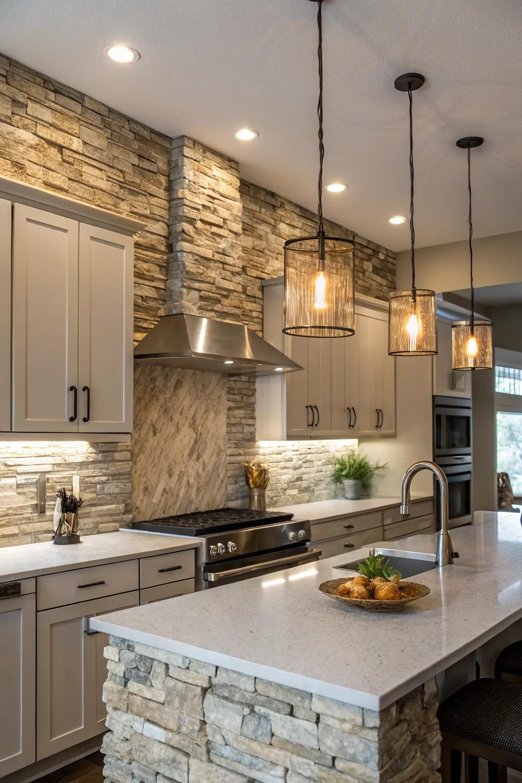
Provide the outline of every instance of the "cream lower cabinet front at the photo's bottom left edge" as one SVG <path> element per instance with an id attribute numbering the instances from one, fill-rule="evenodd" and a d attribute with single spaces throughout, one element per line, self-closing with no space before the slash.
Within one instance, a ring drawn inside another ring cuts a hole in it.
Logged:
<path id="1" fill-rule="evenodd" d="M 11 590 L 20 594 L 9 597 Z M 0 585 L 0 779 L 35 760 L 34 579 Z"/>

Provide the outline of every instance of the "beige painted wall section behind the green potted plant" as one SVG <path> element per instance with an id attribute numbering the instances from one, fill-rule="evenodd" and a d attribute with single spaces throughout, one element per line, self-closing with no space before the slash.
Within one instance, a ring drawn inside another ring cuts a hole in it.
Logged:
<path id="1" fill-rule="evenodd" d="M 406 469 L 418 460 L 433 459 L 432 368 L 430 356 L 395 359 L 396 438 L 361 438 L 358 448 L 388 468 L 374 482 L 372 494 L 401 494 Z M 432 495 L 433 478 L 423 471 L 413 479 L 412 495 Z"/>

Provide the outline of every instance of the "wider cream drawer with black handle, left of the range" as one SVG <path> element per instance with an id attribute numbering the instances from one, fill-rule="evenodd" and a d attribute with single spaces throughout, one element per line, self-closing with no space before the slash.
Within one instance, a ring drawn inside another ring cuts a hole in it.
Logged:
<path id="1" fill-rule="evenodd" d="M 78 604 L 81 601 L 91 601 L 92 598 L 103 598 L 106 595 L 138 589 L 137 560 L 74 568 L 73 571 L 37 577 L 36 608 L 41 612 L 42 609 Z"/>

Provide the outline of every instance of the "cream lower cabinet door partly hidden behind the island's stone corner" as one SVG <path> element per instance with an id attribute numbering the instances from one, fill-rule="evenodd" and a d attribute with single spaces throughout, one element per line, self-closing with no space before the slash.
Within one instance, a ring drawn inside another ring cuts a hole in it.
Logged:
<path id="1" fill-rule="evenodd" d="M 134 590 L 38 612 L 37 760 L 104 731 L 108 642 L 89 619 L 138 605 Z"/>

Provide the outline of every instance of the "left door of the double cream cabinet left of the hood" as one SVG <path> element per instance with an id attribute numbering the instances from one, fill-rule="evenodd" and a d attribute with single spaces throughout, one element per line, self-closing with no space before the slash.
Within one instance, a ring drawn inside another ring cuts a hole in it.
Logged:
<path id="1" fill-rule="evenodd" d="M 77 305 L 77 222 L 15 204 L 14 431 L 77 432 Z"/>

